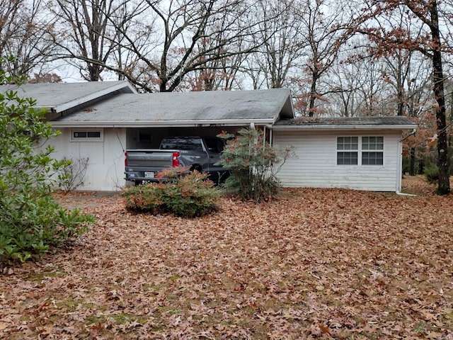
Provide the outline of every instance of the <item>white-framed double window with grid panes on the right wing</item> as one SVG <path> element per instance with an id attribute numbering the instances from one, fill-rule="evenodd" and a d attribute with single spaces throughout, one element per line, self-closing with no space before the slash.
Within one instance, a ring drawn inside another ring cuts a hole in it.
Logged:
<path id="1" fill-rule="evenodd" d="M 337 137 L 337 165 L 384 165 L 384 137 Z"/>

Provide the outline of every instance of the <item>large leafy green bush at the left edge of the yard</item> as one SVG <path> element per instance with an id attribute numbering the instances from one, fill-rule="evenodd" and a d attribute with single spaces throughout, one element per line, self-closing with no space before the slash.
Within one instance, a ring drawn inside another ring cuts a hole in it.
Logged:
<path id="1" fill-rule="evenodd" d="M 4 60 L 4 59 L 3 59 Z M 2 58 L 0 58 L 0 64 Z M 15 79 L 0 72 L 0 84 Z M 53 198 L 53 180 L 67 162 L 43 147 L 58 134 L 35 101 L 17 91 L 0 94 L 0 269 L 40 256 L 88 229 L 93 216 L 66 210 Z"/>

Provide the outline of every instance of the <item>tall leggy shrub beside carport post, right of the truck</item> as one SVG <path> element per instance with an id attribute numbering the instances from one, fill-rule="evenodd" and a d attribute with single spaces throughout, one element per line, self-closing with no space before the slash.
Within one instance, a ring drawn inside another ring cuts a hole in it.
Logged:
<path id="1" fill-rule="evenodd" d="M 280 188 L 276 174 L 292 148 L 277 151 L 265 142 L 262 130 L 242 129 L 233 139 L 226 132 L 218 137 L 227 140 L 219 162 L 230 171 L 224 188 L 235 191 L 241 200 L 255 203 L 274 196 Z"/>

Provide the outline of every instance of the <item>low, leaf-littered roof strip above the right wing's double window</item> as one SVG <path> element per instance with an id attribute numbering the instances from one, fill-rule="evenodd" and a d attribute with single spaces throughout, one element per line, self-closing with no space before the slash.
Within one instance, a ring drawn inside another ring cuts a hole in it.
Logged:
<path id="1" fill-rule="evenodd" d="M 393 117 L 302 117 L 280 120 L 275 124 L 277 130 L 331 130 L 343 129 L 414 129 L 417 124 L 405 116 Z"/>

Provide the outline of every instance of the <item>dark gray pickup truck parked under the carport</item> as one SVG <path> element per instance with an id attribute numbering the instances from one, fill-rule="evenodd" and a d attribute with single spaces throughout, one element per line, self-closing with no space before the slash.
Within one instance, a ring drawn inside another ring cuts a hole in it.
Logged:
<path id="1" fill-rule="evenodd" d="M 216 137 L 166 137 L 159 149 L 127 149 L 125 180 L 135 185 L 161 181 L 159 171 L 171 167 L 189 166 L 190 170 L 205 172 L 218 183 L 227 171 L 216 165 L 224 142 Z"/>

